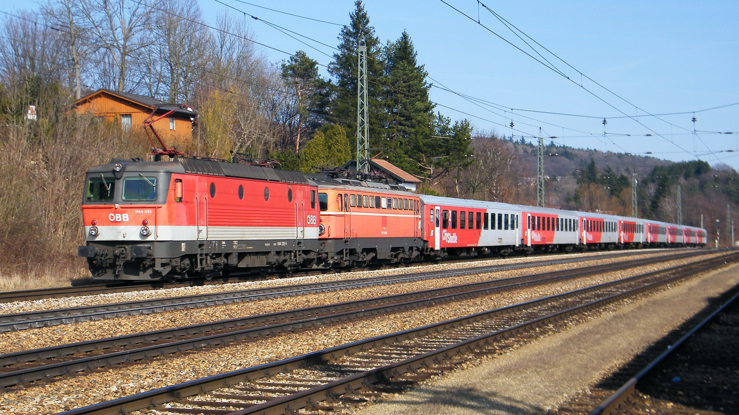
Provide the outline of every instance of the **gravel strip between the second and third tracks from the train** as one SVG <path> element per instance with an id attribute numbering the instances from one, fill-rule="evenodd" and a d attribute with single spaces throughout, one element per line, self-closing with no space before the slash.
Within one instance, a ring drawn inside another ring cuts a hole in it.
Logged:
<path id="1" fill-rule="evenodd" d="M 647 255 L 651 257 L 653 255 Z M 641 257 L 641 256 L 640 256 Z M 701 256 L 704 257 L 704 256 Z M 610 262 L 619 262 L 619 259 L 603 259 L 588 262 L 589 265 L 602 265 Z M 434 265 L 435 266 L 435 265 Z M 557 271 L 573 268 L 573 264 L 562 264 L 546 267 L 546 271 Z M 190 310 L 173 310 L 163 313 L 146 315 L 127 315 L 117 318 L 106 318 L 95 321 L 82 321 L 74 324 L 61 324 L 51 327 L 24 329 L 13 332 L 0 333 L 0 350 L 4 353 L 19 350 L 38 349 L 41 347 L 76 341 L 88 341 L 106 338 L 111 335 L 126 335 L 137 332 L 149 332 L 170 327 L 182 327 L 190 324 L 200 324 L 208 321 L 239 318 L 248 315 L 273 313 L 277 311 L 293 310 L 301 307 L 334 304 L 357 299 L 371 299 L 379 296 L 388 296 L 398 293 L 429 290 L 437 287 L 466 284 L 469 282 L 486 281 L 488 279 L 502 279 L 512 276 L 523 276 L 530 273 L 542 272 L 541 268 L 528 268 L 496 273 L 485 273 L 469 276 L 454 276 L 440 279 L 427 279 L 417 282 L 406 282 L 393 285 L 379 285 L 354 290 L 330 291 L 327 293 L 307 294 L 304 296 L 290 296 L 278 299 L 265 299 L 241 303 L 223 304 L 213 307 L 202 307 Z M 282 282 L 282 281 L 280 281 Z M 285 284 L 282 282 L 282 284 Z"/>

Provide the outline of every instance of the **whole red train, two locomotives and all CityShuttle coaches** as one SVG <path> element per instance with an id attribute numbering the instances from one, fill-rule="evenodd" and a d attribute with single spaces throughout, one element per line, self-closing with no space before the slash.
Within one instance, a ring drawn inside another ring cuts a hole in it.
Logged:
<path id="1" fill-rule="evenodd" d="M 418 195 L 346 172 L 175 158 L 86 172 L 97 279 L 205 278 L 531 251 L 704 246 L 705 229 L 616 215 Z"/>

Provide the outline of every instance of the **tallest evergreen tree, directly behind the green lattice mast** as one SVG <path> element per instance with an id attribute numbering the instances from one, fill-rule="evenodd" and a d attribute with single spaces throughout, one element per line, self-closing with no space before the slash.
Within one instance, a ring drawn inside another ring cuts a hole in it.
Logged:
<path id="1" fill-rule="evenodd" d="M 350 14 L 350 24 L 341 29 L 338 52 L 333 55 L 333 62 L 328 72 L 333 79 L 333 94 L 328 112 L 333 123 L 343 125 L 347 136 L 357 134 L 357 49 L 362 40 L 367 46 L 367 106 L 369 116 L 369 137 L 383 136 L 382 126 L 386 124 L 384 108 L 381 105 L 384 96 L 383 69 L 380 41 L 375 37 L 375 28 L 369 26 L 369 16 L 361 1 L 355 1 L 355 10 Z M 353 153 L 356 150 L 352 140 Z"/>

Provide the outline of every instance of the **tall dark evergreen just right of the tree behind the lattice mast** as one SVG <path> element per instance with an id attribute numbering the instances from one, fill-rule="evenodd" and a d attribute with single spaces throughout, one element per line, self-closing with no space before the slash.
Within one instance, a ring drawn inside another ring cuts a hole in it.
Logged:
<path id="1" fill-rule="evenodd" d="M 392 164 L 412 173 L 422 172 L 416 160 L 423 158 L 433 135 L 434 104 L 429 101 L 427 75 L 417 63 L 408 32 L 403 31 L 398 41 L 386 47 L 385 138 L 389 149 L 385 155 Z"/>

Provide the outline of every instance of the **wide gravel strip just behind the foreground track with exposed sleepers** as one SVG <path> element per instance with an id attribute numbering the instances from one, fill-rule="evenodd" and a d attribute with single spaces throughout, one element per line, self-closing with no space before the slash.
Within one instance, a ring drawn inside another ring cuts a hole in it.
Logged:
<path id="1" fill-rule="evenodd" d="M 684 259 L 678 262 L 670 262 L 669 264 L 650 265 L 639 269 L 638 273 L 690 261 L 690 259 Z M 627 273 L 625 271 L 619 271 L 608 273 L 598 278 L 588 279 L 587 283 L 559 283 L 556 287 L 534 287 L 510 293 L 496 293 L 476 299 L 438 304 L 434 307 L 424 308 L 423 310 L 381 315 L 352 323 L 327 324 L 306 332 L 276 334 L 270 336 L 270 338 L 263 338 L 258 341 L 234 343 L 229 346 L 188 352 L 168 358 L 155 358 L 145 363 L 134 363 L 127 366 L 116 366 L 112 369 L 101 369 L 77 377 L 50 380 L 38 386 L 31 385 L 9 389 L 0 397 L 0 407 L 7 408 L 6 411 L 9 414 L 54 414 L 58 411 L 90 405 L 103 400 L 111 400 L 152 388 L 182 383 L 212 374 L 289 358 L 295 355 L 357 341 L 372 335 L 382 335 L 412 327 L 419 327 L 424 324 L 431 324 L 460 315 L 477 313 L 507 304 L 515 304 L 521 301 L 551 295 L 552 293 L 573 290 L 597 282 L 622 278 L 633 275 L 634 273 L 636 272 Z M 379 289 L 385 292 L 387 288 L 379 287 Z M 285 299 L 278 300 L 285 301 Z M 211 310 L 214 308 L 216 307 L 211 307 Z M 194 310 L 189 310 L 190 313 L 192 311 Z M 149 315 L 148 318 L 154 320 L 168 314 Z M 211 318 L 213 317 L 214 315 L 211 315 Z M 217 317 L 221 318 L 220 315 Z M 168 317 L 163 318 L 166 319 Z M 75 324 L 74 326 L 78 325 Z M 52 329 L 63 330 L 66 327 L 52 327 Z M 25 331 L 37 332 L 37 330 Z M 118 327 L 113 327 L 109 324 L 106 333 L 108 335 L 117 335 L 119 334 Z"/>

